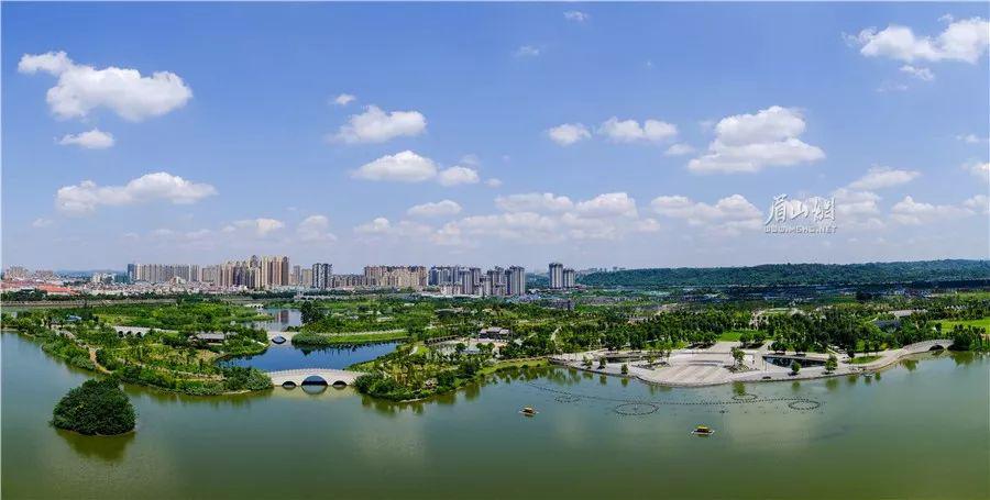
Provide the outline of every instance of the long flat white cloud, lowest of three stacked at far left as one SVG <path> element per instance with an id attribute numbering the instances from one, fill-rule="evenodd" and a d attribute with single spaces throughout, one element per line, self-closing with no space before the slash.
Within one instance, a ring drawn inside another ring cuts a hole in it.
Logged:
<path id="1" fill-rule="evenodd" d="M 217 189 L 208 184 L 197 184 L 160 171 L 146 174 L 123 186 L 98 186 L 91 180 L 65 186 L 56 192 L 55 205 L 66 213 L 85 214 L 100 205 L 119 207 L 160 200 L 177 204 L 195 203 L 216 193 Z"/>

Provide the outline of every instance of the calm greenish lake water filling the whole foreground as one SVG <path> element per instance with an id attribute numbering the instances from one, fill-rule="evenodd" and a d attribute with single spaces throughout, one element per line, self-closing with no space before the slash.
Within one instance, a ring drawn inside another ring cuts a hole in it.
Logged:
<path id="1" fill-rule="evenodd" d="M 417 404 L 128 387 L 138 431 L 108 438 L 47 423 L 90 374 L 13 333 L 0 348 L 4 498 L 990 497 L 986 356 L 705 389 L 518 371 Z"/>

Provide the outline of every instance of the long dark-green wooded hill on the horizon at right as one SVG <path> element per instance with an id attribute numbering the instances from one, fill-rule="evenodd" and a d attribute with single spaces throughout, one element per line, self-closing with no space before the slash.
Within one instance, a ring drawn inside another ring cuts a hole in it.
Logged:
<path id="1" fill-rule="evenodd" d="M 752 267 L 678 267 L 593 273 L 579 282 L 598 287 L 865 285 L 990 279 L 990 260 L 869 264 L 766 264 Z"/>

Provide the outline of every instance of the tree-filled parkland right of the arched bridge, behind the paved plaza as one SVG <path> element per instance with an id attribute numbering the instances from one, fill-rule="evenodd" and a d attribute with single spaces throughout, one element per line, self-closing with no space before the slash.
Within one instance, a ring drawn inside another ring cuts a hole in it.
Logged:
<path id="1" fill-rule="evenodd" d="M 630 292 L 630 300 L 605 303 L 593 291 L 579 295 L 573 311 L 543 308 L 532 303 L 498 303 L 491 301 L 446 301 L 444 320 L 430 323 L 419 335 L 396 352 L 353 369 L 365 371 L 356 384 L 361 392 L 392 399 L 410 400 L 455 389 L 476 378 L 487 367 L 498 366 L 513 358 L 541 358 L 560 353 L 580 353 L 597 348 L 644 349 L 650 363 L 682 346 L 705 346 L 730 340 L 752 347 L 772 340 L 778 351 L 829 353 L 826 367 L 834 371 L 838 359 L 834 353 L 870 353 L 924 340 L 949 337 L 964 349 L 986 351 L 990 347 L 986 331 L 977 326 L 957 325 L 943 330 L 947 319 L 986 318 L 990 315 L 990 298 L 933 296 L 926 298 L 892 297 L 884 299 L 835 301 L 823 297 L 790 307 L 770 307 L 752 301 L 727 303 L 681 304 L 658 309 L 664 296 Z M 591 303 L 582 303 L 587 299 Z M 429 299 L 436 300 L 436 299 Z M 659 302 L 658 302 L 659 300 Z M 455 305 L 451 301 L 457 302 Z M 436 307 L 439 308 L 439 303 Z M 452 307 L 453 305 L 453 307 Z M 771 304 L 777 305 L 777 304 Z M 893 318 L 891 311 L 912 310 L 895 324 L 882 325 Z M 439 314 L 438 314 L 439 315 Z M 458 320 L 460 318 L 460 320 Z M 952 320 L 949 320 L 952 321 Z M 435 347 L 420 342 L 430 338 L 425 332 L 440 330 L 465 332 L 497 325 L 512 334 L 497 348 L 483 338 L 468 338 L 475 348 L 468 349 L 465 340 L 451 346 Z M 737 359 L 741 351 L 736 349 Z M 859 356 L 858 363 L 869 363 L 872 356 Z M 603 368 L 603 358 L 584 358 L 584 367 Z M 792 366 L 794 374 L 800 363 Z M 628 367 L 626 367 L 628 371 Z"/>

